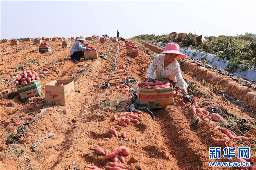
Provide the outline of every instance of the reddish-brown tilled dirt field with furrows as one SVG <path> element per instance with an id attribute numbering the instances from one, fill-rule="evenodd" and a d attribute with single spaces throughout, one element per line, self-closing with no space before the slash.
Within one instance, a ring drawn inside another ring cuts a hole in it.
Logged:
<path id="1" fill-rule="evenodd" d="M 20 42 L 19 45 L 1 44 L 1 78 L 5 80 L 1 84 L 1 170 L 89 170 L 88 166 L 91 165 L 102 166 L 105 170 L 106 163 L 112 161 L 107 159 L 102 162 L 104 155 L 95 152 L 97 145 L 108 152 L 120 146 L 127 147 L 129 155 L 119 155 L 124 156 L 125 163 L 132 170 L 238 169 L 209 166 L 208 162 L 236 162 L 237 155 L 231 159 L 223 157 L 225 145 L 215 145 L 211 135 L 222 139 L 224 133 L 203 120 L 209 116 L 203 116 L 193 124 L 198 116 L 191 112 L 191 105 L 182 104 L 178 95 L 174 96 L 174 106 L 152 109 L 157 121 L 143 112 L 139 115 L 141 121 L 130 123 L 127 127 L 118 125 L 112 116 L 119 117 L 125 110 L 123 104 L 131 105 L 132 102 L 131 93 L 116 89 L 115 86 L 120 83 L 114 80 L 130 77 L 139 83 L 146 81 L 145 73 L 152 62 L 151 56 L 163 49 L 146 42 L 134 41 L 140 51 L 139 56 L 132 58 L 126 56 L 126 47 L 122 41 L 119 44 L 111 41 L 101 44 L 99 40 L 88 42 L 98 49 L 99 56 L 105 54 L 108 60 L 98 57 L 96 60 L 74 63 L 70 60 L 70 48 L 62 48 L 61 41 L 48 42 L 51 50 L 55 51 L 53 54 L 39 52 L 39 45 L 33 45 L 32 41 Z M 35 62 L 40 65 L 35 65 Z M 251 155 L 256 156 L 256 122 L 254 113 L 250 111 L 256 109 L 256 89 L 213 72 L 211 68 L 191 63 L 189 58 L 179 62 L 182 65 L 182 75 L 193 90 L 189 95 L 194 95 L 199 106 L 208 111 L 212 107 L 221 109 L 228 123 L 226 128 L 238 136 L 244 135 L 251 139 L 230 139 L 227 145 L 250 147 Z M 22 65 L 23 63 L 26 65 Z M 44 67 L 49 68 L 49 71 L 41 78 L 41 97 L 30 98 L 23 103 L 19 94 L 14 93 L 14 83 L 7 79 L 15 80 L 15 74 L 19 75 L 24 69 L 40 73 Z M 74 80 L 75 98 L 65 106 L 46 105 L 44 85 L 53 80 L 66 79 Z M 103 89 L 102 85 L 107 83 L 111 86 Z M 137 88 L 137 84 L 128 86 Z M 239 100 L 242 106 L 216 92 Z M 106 97 L 111 100 L 105 100 Z M 115 101 L 120 102 L 118 106 L 114 105 Z M 6 102 L 8 105 L 5 106 Z M 34 103 L 28 104 L 29 102 Z M 39 115 L 44 109 L 46 112 Z M 137 108 L 134 114 L 138 115 L 139 110 Z M 6 121 L 10 123 L 5 124 Z M 22 124 L 14 126 L 15 122 Z M 118 138 L 110 133 L 110 125 L 117 130 Z M 127 133 L 126 138 L 122 137 L 124 131 Z M 48 134 L 52 136 L 45 138 Z M 135 143 L 136 137 L 139 139 L 138 145 Z M 110 140 L 105 141 L 103 138 Z M 32 149 L 39 140 L 40 145 Z M 124 141 L 126 142 L 122 143 Z M 210 147 L 221 147 L 221 159 L 209 159 Z"/>

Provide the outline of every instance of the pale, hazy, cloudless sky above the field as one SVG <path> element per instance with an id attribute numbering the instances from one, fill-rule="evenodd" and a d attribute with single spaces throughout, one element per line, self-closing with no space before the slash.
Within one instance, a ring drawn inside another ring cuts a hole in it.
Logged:
<path id="1" fill-rule="evenodd" d="M 256 33 L 255 0 L 0 1 L 1 39 Z"/>

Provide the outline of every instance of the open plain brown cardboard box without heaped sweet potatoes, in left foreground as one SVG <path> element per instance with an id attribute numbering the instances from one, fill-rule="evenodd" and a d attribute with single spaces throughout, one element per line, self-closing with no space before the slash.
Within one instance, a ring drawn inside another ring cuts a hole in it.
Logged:
<path id="1" fill-rule="evenodd" d="M 44 87 L 46 104 L 66 105 L 75 98 L 74 80 L 54 80 Z"/>

